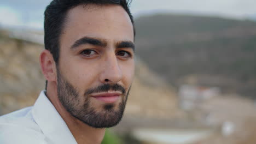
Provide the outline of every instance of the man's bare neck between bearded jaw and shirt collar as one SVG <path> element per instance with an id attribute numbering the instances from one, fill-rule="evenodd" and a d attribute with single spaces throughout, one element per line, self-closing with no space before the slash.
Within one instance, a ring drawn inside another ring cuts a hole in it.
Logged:
<path id="1" fill-rule="evenodd" d="M 105 135 L 105 129 L 92 128 L 79 119 L 73 117 L 61 104 L 57 97 L 56 83 L 48 83 L 47 97 L 60 113 L 62 119 L 66 122 L 69 130 L 78 144 L 100 144 Z"/>

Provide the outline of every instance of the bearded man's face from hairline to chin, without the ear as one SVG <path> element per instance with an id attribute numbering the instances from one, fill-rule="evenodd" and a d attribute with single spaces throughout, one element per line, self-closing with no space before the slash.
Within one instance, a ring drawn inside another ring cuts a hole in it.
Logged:
<path id="1" fill-rule="evenodd" d="M 66 110 L 91 127 L 118 124 L 133 80 L 133 49 L 132 23 L 119 5 L 69 10 L 56 66 Z"/>

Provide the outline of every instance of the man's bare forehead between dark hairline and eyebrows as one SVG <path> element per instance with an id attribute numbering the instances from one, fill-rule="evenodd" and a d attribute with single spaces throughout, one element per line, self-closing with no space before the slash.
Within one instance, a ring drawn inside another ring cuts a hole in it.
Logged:
<path id="1" fill-rule="evenodd" d="M 68 11 L 61 45 L 62 42 L 73 43 L 85 36 L 133 41 L 132 22 L 120 5 L 78 5 Z"/>

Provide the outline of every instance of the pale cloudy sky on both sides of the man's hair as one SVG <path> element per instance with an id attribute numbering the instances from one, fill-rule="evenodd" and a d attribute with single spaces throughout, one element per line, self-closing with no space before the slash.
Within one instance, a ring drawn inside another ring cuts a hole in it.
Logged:
<path id="1" fill-rule="evenodd" d="M 50 0 L 8 0 L 0 2 L 0 26 L 43 29 L 43 13 Z M 256 18 L 255 0 L 133 0 L 131 12 L 135 17 L 154 13 L 178 13 Z"/>

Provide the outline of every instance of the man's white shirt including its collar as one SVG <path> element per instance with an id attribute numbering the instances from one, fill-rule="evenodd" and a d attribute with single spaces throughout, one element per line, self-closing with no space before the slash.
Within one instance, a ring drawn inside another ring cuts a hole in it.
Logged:
<path id="1" fill-rule="evenodd" d="M 33 106 L 0 117 L 0 143 L 77 143 L 42 91 Z"/>

